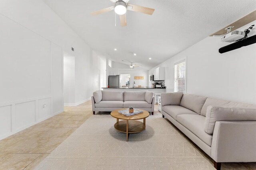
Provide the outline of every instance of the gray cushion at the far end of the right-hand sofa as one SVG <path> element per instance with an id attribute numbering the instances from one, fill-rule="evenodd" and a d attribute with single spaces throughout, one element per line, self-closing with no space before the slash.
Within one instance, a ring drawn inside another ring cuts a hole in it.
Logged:
<path id="1" fill-rule="evenodd" d="M 176 93 L 161 93 L 161 105 L 180 105 L 180 100 L 183 96 L 182 92 Z"/>

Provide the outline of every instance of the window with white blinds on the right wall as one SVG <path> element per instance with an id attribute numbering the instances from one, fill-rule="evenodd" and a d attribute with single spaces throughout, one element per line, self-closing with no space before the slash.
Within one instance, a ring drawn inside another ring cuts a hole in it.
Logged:
<path id="1" fill-rule="evenodd" d="M 174 64 L 174 92 L 186 92 L 186 61 Z"/>

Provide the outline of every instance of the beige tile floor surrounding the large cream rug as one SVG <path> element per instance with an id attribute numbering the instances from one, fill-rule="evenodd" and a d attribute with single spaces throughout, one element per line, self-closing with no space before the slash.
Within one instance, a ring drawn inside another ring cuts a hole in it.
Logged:
<path id="1" fill-rule="evenodd" d="M 154 114 L 161 114 L 157 111 L 157 106 Z M 79 106 L 67 106 L 64 107 L 64 112 L 1 140 L 0 170 L 34 169 L 90 116 L 91 101 Z M 194 146 L 213 164 L 208 155 Z M 256 162 L 224 163 L 222 170 L 256 170 Z"/>

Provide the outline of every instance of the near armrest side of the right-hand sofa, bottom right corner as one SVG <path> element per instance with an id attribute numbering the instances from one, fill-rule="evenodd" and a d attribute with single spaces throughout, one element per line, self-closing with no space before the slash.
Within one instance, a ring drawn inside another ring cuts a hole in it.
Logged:
<path id="1" fill-rule="evenodd" d="M 256 121 L 216 121 L 211 157 L 216 162 L 256 162 Z"/>

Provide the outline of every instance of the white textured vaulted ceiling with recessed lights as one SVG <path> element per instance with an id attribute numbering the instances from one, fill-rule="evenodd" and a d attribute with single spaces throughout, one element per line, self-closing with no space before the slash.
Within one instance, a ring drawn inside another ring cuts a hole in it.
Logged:
<path id="1" fill-rule="evenodd" d="M 154 8 L 155 12 L 149 16 L 128 11 L 127 26 L 121 27 L 118 16 L 115 26 L 114 11 L 90 15 L 112 6 L 109 0 L 44 2 L 90 47 L 108 53 L 114 61 L 131 61 L 144 69 L 162 63 L 256 8 L 255 0 L 130 0 L 130 4 Z"/>

